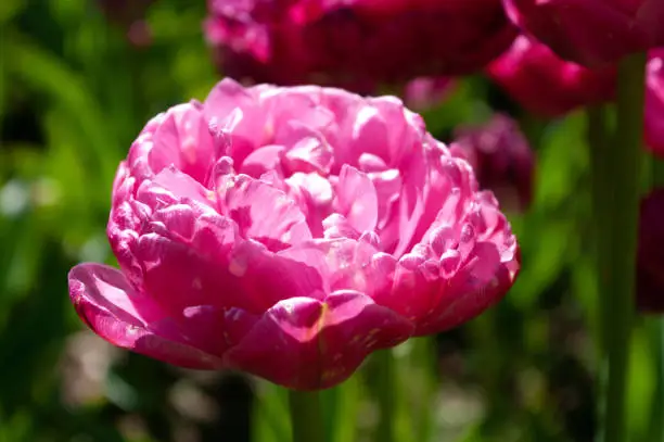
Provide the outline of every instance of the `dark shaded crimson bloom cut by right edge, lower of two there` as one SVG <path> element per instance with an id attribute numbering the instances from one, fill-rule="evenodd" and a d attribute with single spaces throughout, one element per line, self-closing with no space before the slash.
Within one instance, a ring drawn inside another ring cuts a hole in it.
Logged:
<path id="1" fill-rule="evenodd" d="M 664 189 L 641 200 L 637 257 L 637 310 L 664 313 Z"/>

